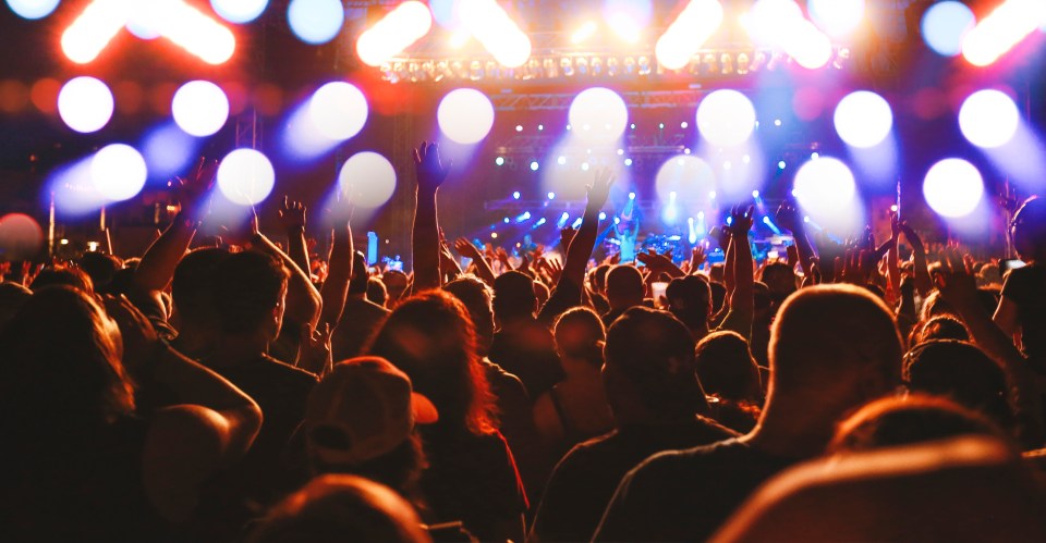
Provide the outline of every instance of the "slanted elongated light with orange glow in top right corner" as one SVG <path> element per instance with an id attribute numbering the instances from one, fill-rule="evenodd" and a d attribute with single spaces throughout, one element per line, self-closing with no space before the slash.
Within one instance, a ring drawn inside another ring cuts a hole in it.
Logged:
<path id="1" fill-rule="evenodd" d="M 962 55 L 975 66 L 987 66 L 1013 49 L 1046 21 L 1046 2 L 1006 0 L 962 39 Z"/>

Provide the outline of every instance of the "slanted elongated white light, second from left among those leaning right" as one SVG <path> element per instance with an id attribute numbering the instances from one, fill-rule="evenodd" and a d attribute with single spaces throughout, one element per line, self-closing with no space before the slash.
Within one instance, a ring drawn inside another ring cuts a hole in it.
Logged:
<path id="1" fill-rule="evenodd" d="M 433 13 L 427 5 L 413 0 L 403 2 L 360 35 L 356 54 L 364 64 L 379 66 L 411 47 L 431 28 Z"/>

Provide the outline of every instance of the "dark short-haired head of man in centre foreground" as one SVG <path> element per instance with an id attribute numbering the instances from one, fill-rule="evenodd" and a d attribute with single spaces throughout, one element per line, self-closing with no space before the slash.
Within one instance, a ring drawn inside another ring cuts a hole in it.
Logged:
<path id="1" fill-rule="evenodd" d="M 678 422 L 707 410 L 694 340 L 668 311 L 633 307 L 607 330 L 603 368 L 618 424 Z"/>

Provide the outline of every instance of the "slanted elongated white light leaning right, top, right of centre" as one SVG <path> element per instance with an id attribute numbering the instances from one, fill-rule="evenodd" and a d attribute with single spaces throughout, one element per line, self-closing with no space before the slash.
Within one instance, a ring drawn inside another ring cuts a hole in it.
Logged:
<path id="1" fill-rule="evenodd" d="M 721 24 L 722 4 L 718 0 L 691 0 L 657 38 L 657 62 L 668 70 L 682 69 Z"/>

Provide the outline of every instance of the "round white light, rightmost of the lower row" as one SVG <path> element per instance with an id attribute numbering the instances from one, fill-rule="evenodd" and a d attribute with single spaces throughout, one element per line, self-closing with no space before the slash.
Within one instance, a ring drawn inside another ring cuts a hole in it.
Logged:
<path id="1" fill-rule="evenodd" d="M 945 159 L 931 166 L 923 181 L 926 203 L 948 218 L 973 212 L 984 197 L 984 180 L 976 166 L 962 159 Z"/>

